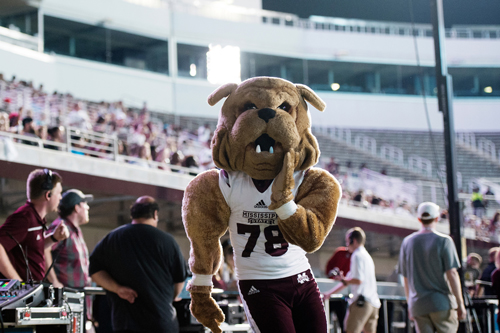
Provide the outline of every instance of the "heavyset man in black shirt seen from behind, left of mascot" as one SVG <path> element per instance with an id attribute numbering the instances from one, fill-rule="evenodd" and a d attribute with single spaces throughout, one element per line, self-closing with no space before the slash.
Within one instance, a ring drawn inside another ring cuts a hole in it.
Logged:
<path id="1" fill-rule="evenodd" d="M 178 332 L 172 306 L 187 270 L 174 238 L 158 230 L 158 204 L 137 199 L 132 223 L 110 232 L 90 256 L 92 279 L 108 291 L 114 332 Z"/>

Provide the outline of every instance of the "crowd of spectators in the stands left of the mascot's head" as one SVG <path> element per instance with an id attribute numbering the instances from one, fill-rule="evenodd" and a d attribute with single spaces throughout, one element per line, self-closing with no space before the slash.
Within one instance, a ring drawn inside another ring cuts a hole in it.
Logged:
<path id="1" fill-rule="evenodd" d="M 68 135 L 67 131 L 72 132 Z M 0 131 L 42 139 L 45 148 L 62 149 L 51 142 L 71 142 L 70 151 L 113 159 L 116 151 L 129 162 L 147 168 L 196 173 L 213 167 L 212 130 L 208 124 L 190 131 L 166 123 L 160 114 L 130 109 L 121 101 L 93 103 L 71 94 L 44 91 L 15 77 L 0 74 Z M 38 145 L 34 140 L 17 139 Z M 157 162 L 157 163 L 155 163 Z"/>

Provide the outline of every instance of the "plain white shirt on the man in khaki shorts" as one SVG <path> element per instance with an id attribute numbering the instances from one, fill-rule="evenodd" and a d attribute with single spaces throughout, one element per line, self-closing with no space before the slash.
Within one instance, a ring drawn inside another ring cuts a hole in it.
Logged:
<path id="1" fill-rule="evenodd" d="M 351 255 L 351 268 L 346 278 L 358 279 L 361 284 L 351 284 L 352 298 L 349 305 L 358 300 L 359 295 L 363 295 L 367 302 L 376 308 L 380 308 L 380 299 L 377 293 L 377 280 L 375 278 L 375 264 L 364 246 L 358 247 Z"/>

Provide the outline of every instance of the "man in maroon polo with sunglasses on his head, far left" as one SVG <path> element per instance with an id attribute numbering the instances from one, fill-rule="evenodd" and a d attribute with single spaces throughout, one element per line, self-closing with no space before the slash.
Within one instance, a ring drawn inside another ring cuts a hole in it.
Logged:
<path id="1" fill-rule="evenodd" d="M 53 233 L 45 232 L 45 215 L 55 211 L 61 200 L 61 182 L 61 176 L 48 169 L 36 169 L 29 174 L 26 204 L 7 217 L 0 227 L 0 275 L 3 278 L 20 281 L 43 279 L 44 249 L 68 237 L 64 224 Z"/>

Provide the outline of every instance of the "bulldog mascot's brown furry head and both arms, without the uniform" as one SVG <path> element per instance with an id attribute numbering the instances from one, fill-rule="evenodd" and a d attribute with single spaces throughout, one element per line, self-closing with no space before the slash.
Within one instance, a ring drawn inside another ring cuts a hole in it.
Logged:
<path id="1" fill-rule="evenodd" d="M 273 180 L 271 206 L 286 241 L 316 251 L 337 215 L 341 188 L 328 172 L 312 168 L 319 158 L 310 131 L 306 100 L 318 110 L 325 104 L 308 87 L 278 78 L 227 84 L 209 96 L 215 105 L 227 97 L 212 139 L 215 164 L 256 180 Z M 294 171 L 308 170 L 294 198 Z M 186 188 L 183 221 L 191 242 L 193 279 L 191 312 L 213 332 L 221 332 L 224 315 L 210 296 L 212 275 L 221 263 L 220 237 L 228 229 L 230 208 L 219 188 L 219 171 L 198 175 Z"/>

